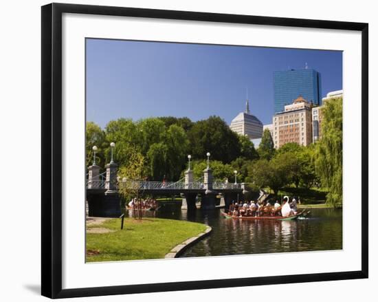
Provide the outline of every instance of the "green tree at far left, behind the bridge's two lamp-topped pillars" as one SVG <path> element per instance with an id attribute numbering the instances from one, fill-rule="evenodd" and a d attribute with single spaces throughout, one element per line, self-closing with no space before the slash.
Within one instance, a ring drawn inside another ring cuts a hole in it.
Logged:
<path id="1" fill-rule="evenodd" d="M 94 122 L 87 122 L 85 127 L 85 153 L 86 153 L 86 164 L 90 166 L 93 164 L 93 146 L 98 148 L 96 153 L 96 164 L 99 166 L 104 166 L 104 149 L 107 148 L 105 142 L 105 133 L 102 131 L 100 126 Z"/>

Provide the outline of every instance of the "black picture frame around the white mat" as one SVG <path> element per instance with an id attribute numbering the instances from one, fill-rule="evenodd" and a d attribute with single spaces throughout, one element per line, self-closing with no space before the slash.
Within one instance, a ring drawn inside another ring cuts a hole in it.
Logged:
<path id="1" fill-rule="evenodd" d="M 62 289 L 62 14 L 98 14 L 362 32 L 362 270 Z M 368 24 L 208 12 L 52 3 L 42 7 L 42 278 L 49 298 L 198 290 L 278 283 L 368 278 Z"/>

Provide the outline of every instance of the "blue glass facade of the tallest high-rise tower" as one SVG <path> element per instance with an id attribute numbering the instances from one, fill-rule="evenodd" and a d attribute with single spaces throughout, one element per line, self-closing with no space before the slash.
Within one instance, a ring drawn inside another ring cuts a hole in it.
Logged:
<path id="1" fill-rule="evenodd" d="M 284 111 L 285 105 L 302 96 L 314 105 L 322 105 L 320 73 L 314 69 L 290 69 L 274 72 L 274 113 Z"/>

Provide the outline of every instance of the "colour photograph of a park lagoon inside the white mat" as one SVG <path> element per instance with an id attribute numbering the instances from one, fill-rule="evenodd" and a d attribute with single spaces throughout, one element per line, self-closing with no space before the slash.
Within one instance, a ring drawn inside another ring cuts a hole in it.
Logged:
<path id="1" fill-rule="evenodd" d="M 340 50 L 86 38 L 86 262 L 342 250 L 342 74 Z"/>

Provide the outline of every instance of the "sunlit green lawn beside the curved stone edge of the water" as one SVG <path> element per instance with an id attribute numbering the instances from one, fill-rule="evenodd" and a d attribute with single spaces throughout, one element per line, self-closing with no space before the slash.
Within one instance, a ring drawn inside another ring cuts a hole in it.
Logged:
<path id="1" fill-rule="evenodd" d="M 127 218 L 123 230 L 120 225 L 120 219 L 87 225 L 88 262 L 161 259 L 206 229 L 205 224 L 158 218 Z"/>

